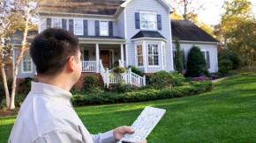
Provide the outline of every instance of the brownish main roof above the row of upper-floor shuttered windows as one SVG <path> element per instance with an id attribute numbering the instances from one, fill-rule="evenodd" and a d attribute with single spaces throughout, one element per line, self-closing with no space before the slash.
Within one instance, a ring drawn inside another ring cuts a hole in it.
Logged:
<path id="1" fill-rule="evenodd" d="M 41 0 L 40 12 L 109 15 L 116 13 L 122 0 Z"/>

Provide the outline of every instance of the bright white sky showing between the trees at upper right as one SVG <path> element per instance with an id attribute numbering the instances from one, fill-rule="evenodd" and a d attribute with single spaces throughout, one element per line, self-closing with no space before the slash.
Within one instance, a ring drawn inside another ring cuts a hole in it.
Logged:
<path id="1" fill-rule="evenodd" d="M 207 25 L 216 25 L 220 23 L 221 15 L 224 12 L 222 5 L 224 0 L 195 0 L 196 4 L 203 4 L 204 10 L 198 11 L 200 22 Z M 256 16 L 256 0 L 249 0 L 252 3 L 252 11 Z"/>

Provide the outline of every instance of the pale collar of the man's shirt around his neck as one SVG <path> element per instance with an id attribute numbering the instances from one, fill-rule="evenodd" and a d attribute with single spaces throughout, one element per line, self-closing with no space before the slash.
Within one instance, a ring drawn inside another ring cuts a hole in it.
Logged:
<path id="1" fill-rule="evenodd" d="M 71 92 L 61 89 L 57 86 L 42 83 L 42 82 L 31 82 L 31 92 L 35 94 L 61 97 L 68 100 L 72 98 Z"/>

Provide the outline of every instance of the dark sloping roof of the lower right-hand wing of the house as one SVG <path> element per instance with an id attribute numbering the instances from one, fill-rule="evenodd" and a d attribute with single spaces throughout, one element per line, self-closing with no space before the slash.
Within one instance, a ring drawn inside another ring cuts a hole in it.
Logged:
<path id="1" fill-rule="evenodd" d="M 172 39 L 185 41 L 219 42 L 197 25 L 187 20 L 171 20 Z"/>

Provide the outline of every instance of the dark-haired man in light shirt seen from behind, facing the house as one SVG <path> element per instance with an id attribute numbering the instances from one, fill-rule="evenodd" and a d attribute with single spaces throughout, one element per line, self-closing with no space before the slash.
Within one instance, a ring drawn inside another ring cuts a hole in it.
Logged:
<path id="1" fill-rule="evenodd" d="M 39 82 L 32 82 L 9 143 L 113 143 L 134 132 L 121 126 L 91 135 L 79 119 L 69 92 L 82 67 L 79 40 L 72 33 L 47 29 L 34 38 L 30 54 Z"/>

